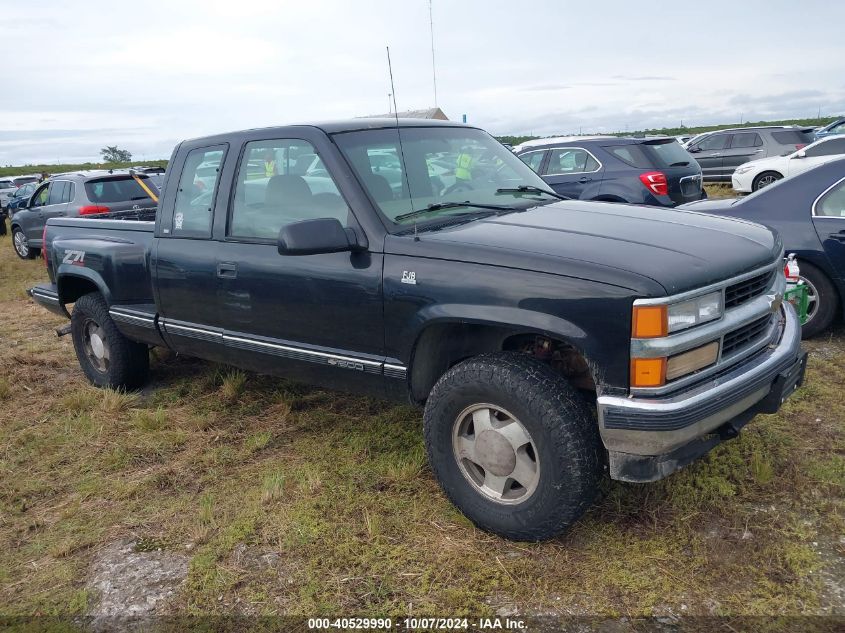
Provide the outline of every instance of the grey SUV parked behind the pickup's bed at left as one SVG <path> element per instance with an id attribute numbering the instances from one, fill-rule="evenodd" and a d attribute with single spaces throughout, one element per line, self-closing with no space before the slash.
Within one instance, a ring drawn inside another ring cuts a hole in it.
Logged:
<path id="1" fill-rule="evenodd" d="M 12 245 L 15 252 L 22 259 L 32 259 L 38 255 L 44 225 L 49 218 L 97 215 L 155 206 L 145 187 L 157 194 L 160 179 L 161 176 L 157 174 L 133 175 L 125 171 L 105 170 L 53 176 L 39 185 L 26 206 L 12 216 Z"/>

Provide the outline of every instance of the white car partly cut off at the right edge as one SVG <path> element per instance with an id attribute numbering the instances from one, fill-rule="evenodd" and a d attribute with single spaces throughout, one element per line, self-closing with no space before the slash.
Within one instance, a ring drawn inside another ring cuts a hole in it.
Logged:
<path id="1" fill-rule="evenodd" d="M 771 156 L 743 163 L 734 171 L 735 191 L 751 193 L 766 185 L 800 174 L 835 158 L 845 156 L 845 136 L 829 136 L 785 156 Z"/>

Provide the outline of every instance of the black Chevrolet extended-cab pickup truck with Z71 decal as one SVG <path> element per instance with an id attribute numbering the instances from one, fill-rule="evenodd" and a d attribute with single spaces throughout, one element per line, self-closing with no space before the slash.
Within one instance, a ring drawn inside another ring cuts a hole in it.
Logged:
<path id="1" fill-rule="evenodd" d="M 804 375 L 777 234 L 561 201 L 452 123 L 185 141 L 155 222 L 51 219 L 44 244 L 31 295 L 95 385 L 138 387 L 158 345 L 410 399 L 443 490 L 509 538 L 561 532 L 605 473 L 674 472 Z"/>

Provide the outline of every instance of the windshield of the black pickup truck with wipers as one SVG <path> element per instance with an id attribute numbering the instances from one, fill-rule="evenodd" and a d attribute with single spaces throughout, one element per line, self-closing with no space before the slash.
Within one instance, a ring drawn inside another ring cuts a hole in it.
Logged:
<path id="1" fill-rule="evenodd" d="M 412 222 L 418 217 L 414 212 L 429 205 L 437 208 L 426 219 L 464 213 L 457 204 L 462 202 L 524 209 L 556 201 L 537 191 L 517 190 L 547 190 L 548 185 L 481 130 L 386 128 L 339 133 L 334 140 L 370 198 L 396 225 Z"/>

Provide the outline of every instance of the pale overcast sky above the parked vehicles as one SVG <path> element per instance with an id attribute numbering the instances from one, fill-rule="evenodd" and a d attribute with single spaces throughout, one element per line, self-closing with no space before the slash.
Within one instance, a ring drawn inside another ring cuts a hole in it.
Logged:
<path id="1" fill-rule="evenodd" d="M 845 113 L 845 3 L 433 0 L 438 105 L 493 134 Z M 428 0 L 0 0 L 0 164 L 434 103 Z"/>

